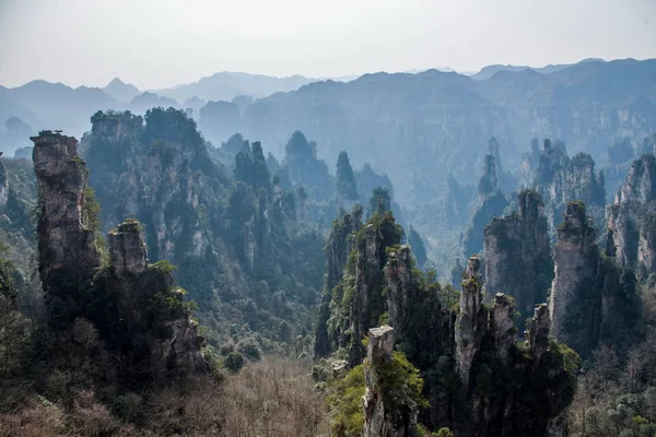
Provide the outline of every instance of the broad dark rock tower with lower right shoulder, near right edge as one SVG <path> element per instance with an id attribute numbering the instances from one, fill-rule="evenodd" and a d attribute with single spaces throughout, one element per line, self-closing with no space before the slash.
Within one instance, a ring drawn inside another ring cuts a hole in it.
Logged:
<path id="1" fill-rule="evenodd" d="M 632 341 L 640 320 L 635 275 L 600 256 L 585 205 L 570 202 L 558 228 L 549 308 L 553 336 L 583 357 L 600 343 Z"/>

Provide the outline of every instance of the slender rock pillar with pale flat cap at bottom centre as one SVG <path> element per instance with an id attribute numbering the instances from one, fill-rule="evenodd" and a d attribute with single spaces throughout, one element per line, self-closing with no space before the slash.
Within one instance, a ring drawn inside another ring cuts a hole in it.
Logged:
<path id="1" fill-rule="evenodd" d="M 417 435 L 418 405 L 401 393 L 385 393 L 382 380 L 391 366 L 394 329 L 389 326 L 368 330 L 368 345 L 364 370 L 365 394 L 363 437 L 411 437 Z M 394 405 L 391 405 L 394 400 Z"/>

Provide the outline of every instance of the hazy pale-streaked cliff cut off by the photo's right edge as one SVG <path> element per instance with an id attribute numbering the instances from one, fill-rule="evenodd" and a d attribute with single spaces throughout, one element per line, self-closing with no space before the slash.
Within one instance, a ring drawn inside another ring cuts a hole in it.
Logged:
<path id="1" fill-rule="evenodd" d="M 633 162 L 614 203 L 606 211 L 608 255 L 641 276 L 656 273 L 656 158 Z"/>

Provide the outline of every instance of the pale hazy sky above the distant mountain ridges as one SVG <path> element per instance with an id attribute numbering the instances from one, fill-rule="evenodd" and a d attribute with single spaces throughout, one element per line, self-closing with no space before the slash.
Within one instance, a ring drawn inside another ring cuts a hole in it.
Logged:
<path id="1" fill-rule="evenodd" d="M 655 58 L 656 0 L 0 0 L 0 84 Z"/>

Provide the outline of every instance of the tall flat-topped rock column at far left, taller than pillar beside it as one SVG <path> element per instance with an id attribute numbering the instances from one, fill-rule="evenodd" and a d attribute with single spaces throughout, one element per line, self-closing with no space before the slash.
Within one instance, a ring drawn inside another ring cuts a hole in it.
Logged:
<path id="1" fill-rule="evenodd" d="M 32 137 L 38 182 L 38 270 L 48 318 L 66 326 L 84 306 L 84 288 L 99 265 L 86 164 L 78 140 L 42 131 Z"/>

